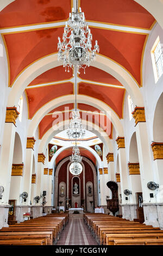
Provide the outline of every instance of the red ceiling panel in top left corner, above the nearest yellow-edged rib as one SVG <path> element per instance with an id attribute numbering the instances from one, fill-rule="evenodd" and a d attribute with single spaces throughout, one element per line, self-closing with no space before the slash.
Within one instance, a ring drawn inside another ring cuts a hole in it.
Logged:
<path id="1" fill-rule="evenodd" d="M 71 0 L 16 0 L 1 11 L 0 27 L 66 20 L 70 11 Z"/>

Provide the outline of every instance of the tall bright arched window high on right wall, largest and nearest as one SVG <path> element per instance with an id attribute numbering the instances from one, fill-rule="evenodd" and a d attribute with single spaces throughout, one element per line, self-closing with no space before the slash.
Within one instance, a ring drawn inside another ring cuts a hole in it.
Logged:
<path id="1" fill-rule="evenodd" d="M 160 42 L 159 36 L 152 47 L 151 57 L 152 57 L 154 78 L 156 83 L 158 82 L 159 78 L 163 73 L 163 53 L 162 53 L 162 44 Z"/>

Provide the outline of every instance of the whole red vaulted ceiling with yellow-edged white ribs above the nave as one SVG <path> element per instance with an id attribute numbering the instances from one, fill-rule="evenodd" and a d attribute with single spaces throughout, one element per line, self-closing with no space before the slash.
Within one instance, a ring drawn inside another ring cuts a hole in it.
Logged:
<path id="1" fill-rule="evenodd" d="M 154 17 L 134 0 L 78 2 L 91 29 L 92 45 L 98 40 L 99 54 L 122 66 L 134 78 L 137 87 L 141 87 L 143 53 L 155 23 Z M 0 12 L 1 35 L 8 58 L 9 87 L 29 65 L 58 52 L 58 36 L 62 38 L 72 7 L 71 0 L 15 0 Z M 123 118 L 126 89 L 115 77 L 90 66 L 86 68 L 86 74 L 82 71 L 78 75 L 77 82 L 78 95 L 104 102 L 118 118 Z M 73 72 L 65 72 L 62 66 L 50 69 L 30 82 L 25 92 L 28 118 L 32 119 L 49 101 L 74 94 Z M 65 119 L 65 106 L 70 111 L 74 108 L 73 103 L 61 103 L 60 107 L 54 107 L 43 117 L 39 124 L 40 138 L 51 129 L 54 111 L 61 111 Z M 79 103 L 78 108 L 80 114 L 99 112 L 98 108 L 84 102 Z M 66 118 L 70 116 L 66 115 Z M 104 123 L 107 118 L 104 118 Z M 96 123 L 95 118 L 92 123 Z M 104 123 L 101 121 L 105 130 Z M 111 122 L 110 127 L 108 136 L 112 138 Z"/>

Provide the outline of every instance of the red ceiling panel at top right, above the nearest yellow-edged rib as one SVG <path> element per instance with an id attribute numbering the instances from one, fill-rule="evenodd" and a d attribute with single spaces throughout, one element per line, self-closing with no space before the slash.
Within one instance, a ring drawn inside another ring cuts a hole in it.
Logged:
<path id="1" fill-rule="evenodd" d="M 150 28 L 155 21 L 140 4 L 133 0 L 80 0 L 86 20 L 121 26 Z"/>

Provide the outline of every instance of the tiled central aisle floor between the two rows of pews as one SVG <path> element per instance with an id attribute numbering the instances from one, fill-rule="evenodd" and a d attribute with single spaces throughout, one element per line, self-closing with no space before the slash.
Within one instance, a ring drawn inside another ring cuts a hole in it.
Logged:
<path id="1" fill-rule="evenodd" d="M 84 223 L 83 214 L 69 216 L 68 224 L 62 231 L 57 245 L 97 245 L 91 231 Z"/>

